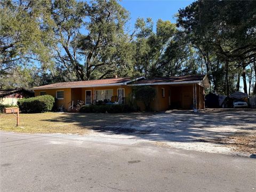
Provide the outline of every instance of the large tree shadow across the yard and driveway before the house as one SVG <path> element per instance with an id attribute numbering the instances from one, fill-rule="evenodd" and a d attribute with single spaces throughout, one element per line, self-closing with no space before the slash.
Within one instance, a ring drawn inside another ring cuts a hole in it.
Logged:
<path id="1" fill-rule="evenodd" d="M 210 142 L 226 145 L 222 138 L 235 133 L 255 135 L 253 110 L 169 111 L 169 113 L 85 114 L 70 113 L 51 122 L 75 122 L 81 129 L 105 134 L 134 135 L 152 141 Z M 251 144 L 250 144 L 251 145 Z M 253 143 L 255 147 L 255 143 Z M 256 148 L 256 147 L 255 147 Z"/>

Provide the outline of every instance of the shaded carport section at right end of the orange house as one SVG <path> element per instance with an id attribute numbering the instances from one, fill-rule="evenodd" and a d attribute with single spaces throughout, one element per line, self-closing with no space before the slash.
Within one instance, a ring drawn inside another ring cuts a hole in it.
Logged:
<path id="1" fill-rule="evenodd" d="M 205 88 L 209 80 L 205 75 L 143 79 L 130 86 L 153 86 L 156 99 L 152 108 L 156 111 L 168 109 L 204 109 Z"/>

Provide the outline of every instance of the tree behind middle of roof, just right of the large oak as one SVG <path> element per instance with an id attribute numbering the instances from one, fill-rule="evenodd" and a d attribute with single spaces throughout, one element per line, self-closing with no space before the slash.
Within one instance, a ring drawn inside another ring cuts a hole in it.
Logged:
<path id="1" fill-rule="evenodd" d="M 156 24 L 156 33 L 153 31 L 153 22 L 137 19 L 135 24 L 135 68 L 145 77 L 159 76 L 159 71 L 165 65 L 161 63 L 165 50 L 175 33 L 175 25 L 170 21 L 159 19 Z"/>

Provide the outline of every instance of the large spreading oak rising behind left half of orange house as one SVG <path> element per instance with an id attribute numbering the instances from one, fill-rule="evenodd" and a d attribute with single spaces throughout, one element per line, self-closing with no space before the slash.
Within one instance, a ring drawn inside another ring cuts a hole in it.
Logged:
<path id="1" fill-rule="evenodd" d="M 69 81 L 129 73 L 131 48 L 124 32 L 129 14 L 116 1 L 56 0 L 51 14 L 59 45 L 55 58 Z"/>

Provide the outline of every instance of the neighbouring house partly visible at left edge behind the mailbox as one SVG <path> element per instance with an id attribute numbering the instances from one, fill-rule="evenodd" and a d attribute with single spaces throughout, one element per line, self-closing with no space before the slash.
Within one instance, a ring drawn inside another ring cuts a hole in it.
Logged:
<path id="1" fill-rule="evenodd" d="M 0 103 L 3 105 L 17 105 L 18 99 L 29 97 L 34 97 L 34 92 L 23 88 L 0 91 Z"/>

